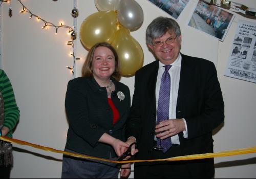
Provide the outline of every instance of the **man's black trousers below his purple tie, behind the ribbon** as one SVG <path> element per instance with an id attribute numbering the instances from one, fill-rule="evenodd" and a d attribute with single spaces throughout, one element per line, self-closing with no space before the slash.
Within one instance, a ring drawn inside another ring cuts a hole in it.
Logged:
<path id="1" fill-rule="evenodd" d="M 166 153 L 152 150 L 151 160 L 166 159 L 182 155 L 179 145 L 173 145 Z M 163 161 L 135 163 L 135 178 L 190 178 L 185 161 Z"/>

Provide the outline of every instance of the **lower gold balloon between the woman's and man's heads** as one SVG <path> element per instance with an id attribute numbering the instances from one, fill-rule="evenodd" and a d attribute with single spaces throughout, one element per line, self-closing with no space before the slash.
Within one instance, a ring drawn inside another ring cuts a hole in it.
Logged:
<path id="1" fill-rule="evenodd" d="M 121 74 L 132 76 L 143 65 L 143 50 L 140 44 L 130 34 L 129 30 L 120 27 L 112 42 L 121 62 Z"/>

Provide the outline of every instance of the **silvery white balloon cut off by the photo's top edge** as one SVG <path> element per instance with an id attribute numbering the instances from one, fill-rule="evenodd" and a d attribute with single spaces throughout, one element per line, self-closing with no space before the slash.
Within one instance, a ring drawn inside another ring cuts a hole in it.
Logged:
<path id="1" fill-rule="evenodd" d="M 95 0 L 94 3 L 99 11 L 115 11 L 118 8 L 120 0 Z"/>

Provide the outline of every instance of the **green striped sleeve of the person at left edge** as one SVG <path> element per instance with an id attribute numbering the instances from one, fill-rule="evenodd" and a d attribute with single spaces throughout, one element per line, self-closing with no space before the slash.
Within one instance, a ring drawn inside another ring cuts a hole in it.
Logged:
<path id="1" fill-rule="evenodd" d="M 0 70 L 0 91 L 4 98 L 5 107 L 5 121 L 3 126 L 10 129 L 7 136 L 12 137 L 12 129 L 19 120 L 19 109 L 16 104 L 11 82 L 3 70 Z"/>

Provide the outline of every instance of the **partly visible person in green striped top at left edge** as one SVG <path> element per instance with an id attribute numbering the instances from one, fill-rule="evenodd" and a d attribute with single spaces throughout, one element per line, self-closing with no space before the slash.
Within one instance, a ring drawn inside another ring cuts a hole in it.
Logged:
<path id="1" fill-rule="evenodd" d="M 19 120 L 12 84 L 6 73 L 0 69 L 0 136 L 12 138 L 13 128 Z M 0 178 L 10 178 L 13 165 L 12 145 L 0 141 Z"/>

